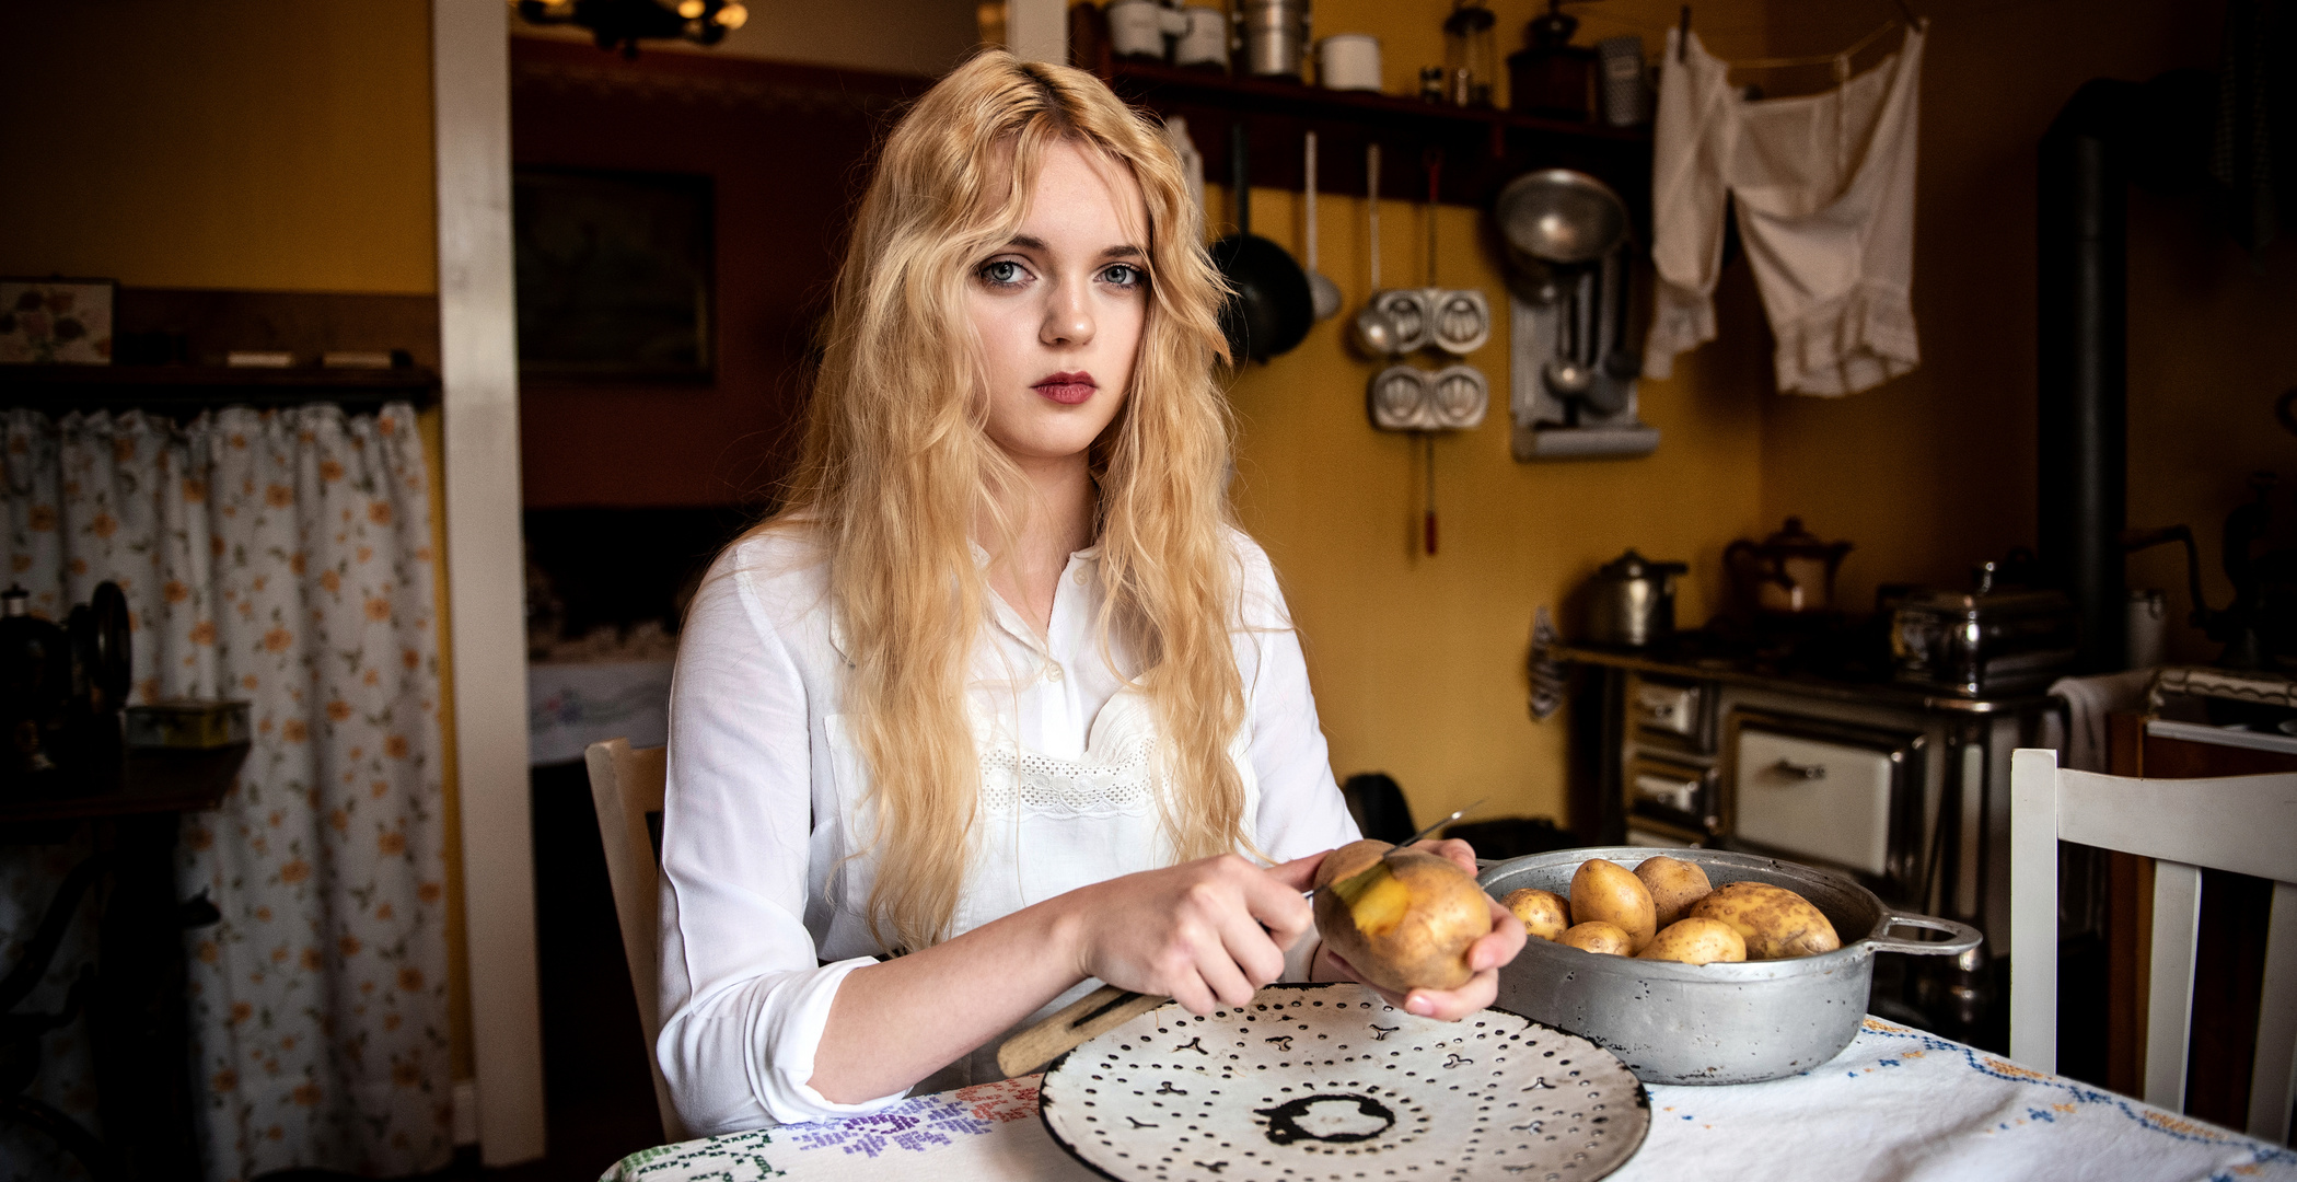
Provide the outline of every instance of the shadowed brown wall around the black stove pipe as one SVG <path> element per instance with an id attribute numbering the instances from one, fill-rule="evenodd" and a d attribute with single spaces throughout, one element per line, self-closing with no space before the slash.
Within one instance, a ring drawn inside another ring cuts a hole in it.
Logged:
<path id="1" fill-rule="evenodd" d="M 2035 142 L 2081 83 L 2214 67 L 2223 34 L 2221 2 L 1916 7 L 1932 18 L 1913 275 L 1923 367 L 1842 399 L 1762 397 L 1762 516 L 1776 528 L 1801 514 L 1856 542 L 1842 569 L 1854 611 L 1877 583 L 1959 583 L 1973 562 L 2035 542 Z M 1771 0 L 1771 53 L 1833 50 L 1886 14 Z M 2219 523 L 2249 498 L 2249 473 L 2297 480 L 2297 438 L 2272 422 L 2274 397 L 2297 386 L 2292 324 L 2290 243 L 2253 264 L 2205 227 L 2194 197 L 2132 193 L 2129 523 L 2194 526 L 2217 606 L 2230 599 Z M 2139 555 L 2129 578 L 2168 590 L 2173 656 L 2217 654 L 2182 624 L 2182 555 Z"/>

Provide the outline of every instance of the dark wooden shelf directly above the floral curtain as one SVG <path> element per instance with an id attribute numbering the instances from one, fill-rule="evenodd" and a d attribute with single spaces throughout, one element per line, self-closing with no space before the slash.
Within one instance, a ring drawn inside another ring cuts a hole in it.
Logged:
<path id="1" fill-rule="evenodd" d="M 0 367 L 0 406 L 67 411 L 154 411 L 179 420 L 218 406 L 306 406 L 333 402 L 370 413 L 386 402 L 432 406 L 439 374 L 397 370 L 260 370 L 237 365 L 9 365 Z"/>

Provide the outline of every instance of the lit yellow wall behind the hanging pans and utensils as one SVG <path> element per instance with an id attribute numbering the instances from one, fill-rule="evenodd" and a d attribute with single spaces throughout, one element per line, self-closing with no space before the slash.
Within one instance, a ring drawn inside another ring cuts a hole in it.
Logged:
<path id="1" fill-rule="evenodd" d="M 1757 5 L 1702 5 L 1741 53 L 1760 53 Z M 1323 0 L 1318 34 L 1371 32 L 1383 41 L 1390 92 L 1408 92 L 1417 67 L 1443 62 L 1447 5 Z M 1495 2 L 1502 53 L 1521 46 L 1534 5 Z M 1658 50 L 1670 5 L 1580 9 L 1580 41 L 1638 32 Z M 1208 218 L 1231 220 L 1215 186 Z M 1254 188 L 1252 230 L 1300 255 L 1298 193 Z M 1766 358 L 1753 287 L 1739 275 L 1720 294 L 1723 342 L 1672 381 L 1642 383 L 1642 418 L 1661 429 L 1647 459 L 1518 464 L 1507 448 L 1507 328 L 1498 259 L 1482 243 L 1484 213 L 1438 216 L 1438 282 L 1477 287 L 1500 310 L 1491 344 L 1468 358 L 1491 379 L 1491 413 L 1475 431 L 1436 438 L 1440 544 L 1417 551 L 1424 503 L 1420 438 L 1371 429 L 1364 383 L 1376 365 L 1353 356 L 1341 324 L 1369 280 L 1364 200 L 1318 197 L 1321 271 L 1346 310 L 1300 349 L 1254 365 L 1231 390 L 1238 420 L 1236 500 L 1268 549 L 1307 647 L 1332 769 L 1387 771 L 1413 812 L 1488 796 L 1479 815 L 1564 817 L 1564 718 L 1528 714 L 1532 608 L 1560 608 L 1619 551 L 1686 560 L 1677 615 L 1691 624 L 1720 608 L 1723 546 L 1762 519 L 1762 402 Z M 1417 282 L 1426 223 L 1413 202 L 1380 204 L 1380 273 Z"/>

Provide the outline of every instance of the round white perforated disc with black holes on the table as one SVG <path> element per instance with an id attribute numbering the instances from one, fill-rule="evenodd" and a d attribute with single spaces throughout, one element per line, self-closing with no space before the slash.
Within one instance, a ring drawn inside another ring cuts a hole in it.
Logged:
<path id="1" fill-rule="evenodd" d="M 1635 1154 L 1652 1104 L 1610 1051 L 1502 1010 L 1431 1021 L 1355 985 L 1273 985 L 1077 1047 L 1038 1115 L 1123 1182 L 1578 1182 Z"/>

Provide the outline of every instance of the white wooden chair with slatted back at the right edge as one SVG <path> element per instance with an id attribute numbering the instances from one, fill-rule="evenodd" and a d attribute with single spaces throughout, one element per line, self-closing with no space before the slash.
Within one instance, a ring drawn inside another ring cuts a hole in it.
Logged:
<path id="1" fill-rule="evenodd" d="M 2249 1134 L 2286 1143 L 2297 1092 L 2297 773 L 2132 780 L 2010 757 L 2010 1058 L 2058 1070 L 2058 842 L 2155 858 L 2145 1102 L 2184 1111 L 2201 868 L 2274 881 Z"/>

